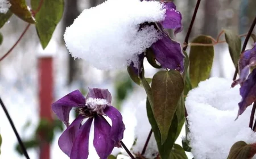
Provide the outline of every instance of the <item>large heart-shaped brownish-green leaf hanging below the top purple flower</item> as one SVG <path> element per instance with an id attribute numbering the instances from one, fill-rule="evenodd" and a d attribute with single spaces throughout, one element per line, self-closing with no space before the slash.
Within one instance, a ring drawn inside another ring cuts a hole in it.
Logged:
<path id="1" fill-rule="evenodd" d="M 176 70 L 159 71 L 152 78 L 153 112 L 161 132 L 162 144 L 166 141 L 177 103 L 184 89 L 184 81 Z"/>

